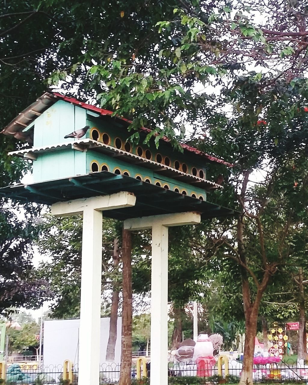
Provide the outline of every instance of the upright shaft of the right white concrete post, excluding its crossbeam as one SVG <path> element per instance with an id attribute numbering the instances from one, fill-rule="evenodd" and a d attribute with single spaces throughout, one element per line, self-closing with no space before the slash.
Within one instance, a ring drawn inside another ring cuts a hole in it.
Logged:
<path id="1" fill-rule="evenodd" d="M 168 377 L 168 228 L 152 227 L 151 385 L 167 385 Z"/>

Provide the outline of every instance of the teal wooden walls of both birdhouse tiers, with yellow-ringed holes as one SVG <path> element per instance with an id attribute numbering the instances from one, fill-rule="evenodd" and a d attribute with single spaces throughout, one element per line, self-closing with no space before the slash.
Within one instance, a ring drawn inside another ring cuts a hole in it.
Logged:
<path id="1" fill-rule="evenodd" d="M 156 149 L 154 139 L 151 139 L 149 146 L 142 144 L 144 136 L 141 137 L 141 144 L 133 146 L 127 142 L 131 132 L 121 122 L 109 116 L 93 116 L 81 107 L 74 106 L 63 100 L 59 100 L 35 120 L 34 147 L 53 146 L 63 142 L 74 142 L 77 139 L 64 136 L 89 125 L 84 138 L 104 142 L 109 146 L 121 148 L 146 159 L 166 164 L 174 169 L 200 176 L 206 179 L 206 161 L 196 154 L 181 153 L 161 141 Z M 144 134 L 141 134 L 144 135 Z M 44 152 L 39 154 L 37 161 L 33 162 L 33 178 L 35 182 L 84 175 L 89 172 L 101 171 L 105 166 L 110 172 L 126 173 L 129 176 L 137 177 L 145 181 L 148 179 L 152 184 L 195 195 L 206 199 L 206 192 L 198 187 L 179 182 L 176 179 L 156 174 L 150 169 L 142 166 L 119 161 L 116 157 L 110 157 L 99 152 L 89 150 L 80 152 L 73 149 Z"/>

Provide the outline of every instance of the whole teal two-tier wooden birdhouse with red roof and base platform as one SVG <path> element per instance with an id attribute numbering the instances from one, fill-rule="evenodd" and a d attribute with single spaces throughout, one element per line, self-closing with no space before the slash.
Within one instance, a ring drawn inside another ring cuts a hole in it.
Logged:
<path id="1" fill-rule="evenodd" d="M 209 190 L 222 187 L 206 179 L 206 169 L 211 163 L 231 164 L 185 144 L 183 152 L 175 151 L 166 138 L 158 149 L 154 141 L 145 146 L 146 128 L 133 146 L 128 125 L 111 111 L 46 92 L 2 131 L 32 146 L 10 155 L 33 161 L 33 183 L 5 187 L 1 193 L 52 204 L 130 191 L 139 204 L 107 214 L 119 219 L 192 209 L 204 216 L 229 213 L 206 202 Z"/>

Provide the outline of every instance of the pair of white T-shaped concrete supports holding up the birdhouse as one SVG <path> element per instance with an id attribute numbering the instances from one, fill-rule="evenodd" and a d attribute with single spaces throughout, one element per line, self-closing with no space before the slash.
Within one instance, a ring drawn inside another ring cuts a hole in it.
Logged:
<path id="1" fill-rule="evenodd" d="M 83 214 L 78 383 L 99 385 L 102 211 L 133 207 L 129 192 L 59 202 L 55 216 Z M 174 213 L 124 221 L 129 230 L 152 228 L 151 385 L 168 383 L 168 227 L 198 224 L 199 213 Z"/>

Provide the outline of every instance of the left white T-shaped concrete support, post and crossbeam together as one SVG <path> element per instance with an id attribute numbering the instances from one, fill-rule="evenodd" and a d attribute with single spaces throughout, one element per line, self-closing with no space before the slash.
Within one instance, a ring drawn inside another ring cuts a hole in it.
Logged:
<path id="1" fill-rule="evenodd" d="M 78 384 L 99 385 L 100 305 L 102 282 L 102 211 L 131 207 L 129 192 L 58 202 L 55 216 L 83 214 Z"/>

